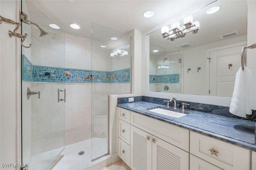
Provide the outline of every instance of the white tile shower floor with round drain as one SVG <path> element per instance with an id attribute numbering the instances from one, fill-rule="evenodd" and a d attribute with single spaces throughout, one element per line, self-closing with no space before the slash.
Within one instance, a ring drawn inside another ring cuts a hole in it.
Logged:
<path id="1" fill-rule="evenodd" d="M 93 141 L 93 145 L 92 145 Z M 65 149 L 60 153 L 61 149 L 51 150 L 32 156 L 30 169 L 43 170 L 56 157 L 56 153 L 64 155 L 63 158 L 52 168 L 52 170 L 84 170 L 94 164 L 104 160 L 101 158 L 92 162 L 93 158 L 97 158 L 108 152 L 107 138 L 90 138 L 74 144 L 66 145 Z M 63 149 L 63 148 L 62 148 Z M 84 151 L 83 155 L 78 155 L 78 152 Z M 49 162 L 50 161 L 50 162 Z"/>

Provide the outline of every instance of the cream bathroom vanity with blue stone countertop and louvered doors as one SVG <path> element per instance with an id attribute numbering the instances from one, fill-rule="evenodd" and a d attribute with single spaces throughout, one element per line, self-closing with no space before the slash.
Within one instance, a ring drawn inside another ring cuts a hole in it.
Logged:
<path id="1" fill-rule="evenodd" d="M 132 170 L 256 169 L 254 134 L 234 129 L 255 122 L 197 111 L 175 118 L 144 101 L 117 106 L 118 155 Z"/>

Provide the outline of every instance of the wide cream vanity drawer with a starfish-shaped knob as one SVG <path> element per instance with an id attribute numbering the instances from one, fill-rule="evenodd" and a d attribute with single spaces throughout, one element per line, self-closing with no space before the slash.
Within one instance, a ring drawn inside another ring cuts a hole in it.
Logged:
<path id="1" fill-rule="evenodd" d="M 192 131 L 190 153 L 225 170 L 250 169 L 250 150 Z"/>

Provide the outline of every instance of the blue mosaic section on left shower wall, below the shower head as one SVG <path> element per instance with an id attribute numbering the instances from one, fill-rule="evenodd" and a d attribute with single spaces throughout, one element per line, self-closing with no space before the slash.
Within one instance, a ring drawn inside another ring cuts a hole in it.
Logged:
<path id="1" fill-rule="evenodd" d="M 32 81 L 32 63 L 27 59 L 25 55 L 22 55 L 22 80 Z"/>

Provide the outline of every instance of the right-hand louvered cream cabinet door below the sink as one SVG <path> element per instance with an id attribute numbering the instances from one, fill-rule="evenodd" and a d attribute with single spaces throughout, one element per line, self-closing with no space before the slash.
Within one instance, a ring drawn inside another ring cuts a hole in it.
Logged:
<path id="1" fill-rule="evenodd" d="M 152 137 L 153 170 L 189 170 L 189 153 L 176 146 Z"/>

